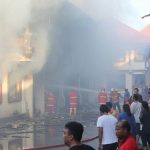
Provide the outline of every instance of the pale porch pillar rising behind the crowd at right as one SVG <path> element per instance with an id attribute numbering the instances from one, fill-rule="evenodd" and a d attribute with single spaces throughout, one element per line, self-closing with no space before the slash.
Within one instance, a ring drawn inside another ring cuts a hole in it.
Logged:
<path id="1" fill-rule="evenodd" d="M 130 93 L 132 93 L 132 85 L 133 85 L 133 79 L 131 73 L 125 74 L 125 87 L 129 90 Z"/>

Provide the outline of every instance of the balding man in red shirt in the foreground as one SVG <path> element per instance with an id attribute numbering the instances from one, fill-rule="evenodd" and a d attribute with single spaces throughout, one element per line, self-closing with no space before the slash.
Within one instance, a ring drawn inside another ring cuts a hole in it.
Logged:
<path id="1" fill-rule="evenodd" d="M 130 129 L 130 124 L 126 120 L 117 123 L 116 135 L 119 141 L 118 150 L 138 150 L 135 139 L 130 135 Z"/>

